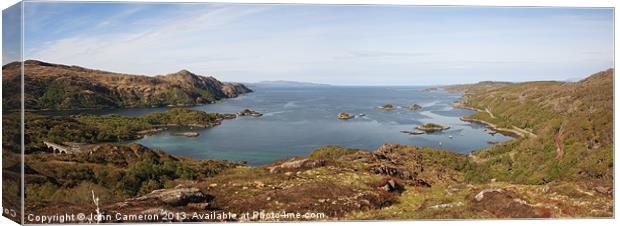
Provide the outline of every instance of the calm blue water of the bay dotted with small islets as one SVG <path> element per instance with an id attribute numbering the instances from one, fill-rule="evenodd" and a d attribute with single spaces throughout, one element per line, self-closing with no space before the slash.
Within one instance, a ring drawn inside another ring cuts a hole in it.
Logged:
<path id="1" fill-rule="evenodd" d="M 198 159 L 244 160 L 261 165 L 273 160 L 307 155 L 314 148 L 334 144 L 375 150 L 385 143 L 411 144 L 468 153 L 490 146 L 487 141 L 510 137 L 490 135 L 483 126 L 459 120 L 470 110 L 453 108 L 460 95 L 426 92 L 424 87 L 253 87 L 254 93 L 221 103 L 193 107 L 207 112 L 236 113 L 245 108 L 262 112 L 259 118 L 226 120 L 220 126 L 196 130 L 198 137 L 171 136 L 164 132 L 133 141 L 166 152 Z M 419 104 L 417 111 L 386 111 L 376 106 Z M 139 116 L 165 108 L 119 109 L 97 114 Z M 339 112 L 365 114 L 339 120 Z M 434 122 L 449 130 L 408 135 L 417 125 Z M 189 129 L 177 129 L 189 130 Z"/>

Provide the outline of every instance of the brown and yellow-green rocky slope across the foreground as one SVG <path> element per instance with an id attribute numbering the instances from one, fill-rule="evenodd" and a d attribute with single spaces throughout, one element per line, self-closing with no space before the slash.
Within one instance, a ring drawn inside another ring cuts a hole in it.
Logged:
<path id="1" fill-rule="evenodd" d="M 135 145 L 129 148 L 144 149 Z M 94 164 L 87 159 L 77 162 Z M 62 161 L 76 160 L 56 157 L 46 166 L 58 167 Z M 206 167 L 213 163 L 202 164 Z M 103 222 L 612 216 L 611 195 L 582 183 L 470 183 L 465 173 L 472 164 L 462 154 L 413 146 L 387 144 L 373 152 L 326 146 L 308 157 L 256 168 L 220 163 L 222 170 L 215 174 L 177 180 L 123 201 L 110 199 L 100 187 L 95 194 L 102 200 L 99 210 L 105 216 Z M 131 163 L 129 168 L 133 168 Z M 73 190 L 83 203 L 50 202 L 32 210 L 36 214 L 95 213 L 96 206 L 88 200 L 89 189 Z M 30 191 L 36 194 L 41 189 Z M 282 211 L 295 216 L 274 217 Z M 158 217 L 117 217 L 141 215 Z"/>

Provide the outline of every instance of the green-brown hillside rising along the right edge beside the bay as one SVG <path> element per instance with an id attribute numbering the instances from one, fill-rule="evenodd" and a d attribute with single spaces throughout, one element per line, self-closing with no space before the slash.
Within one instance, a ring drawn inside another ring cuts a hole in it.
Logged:
<path id="1" fill-rule="evenodd" d="M 471 118 L 536 134 L 477 151 L 472 182 L 492 178 L 524 184 L 613 179 L 613 70 L 576 83 L 529 82 L 472 86 Z M 562 149 L 562 150 L 560 150 Z"/>

